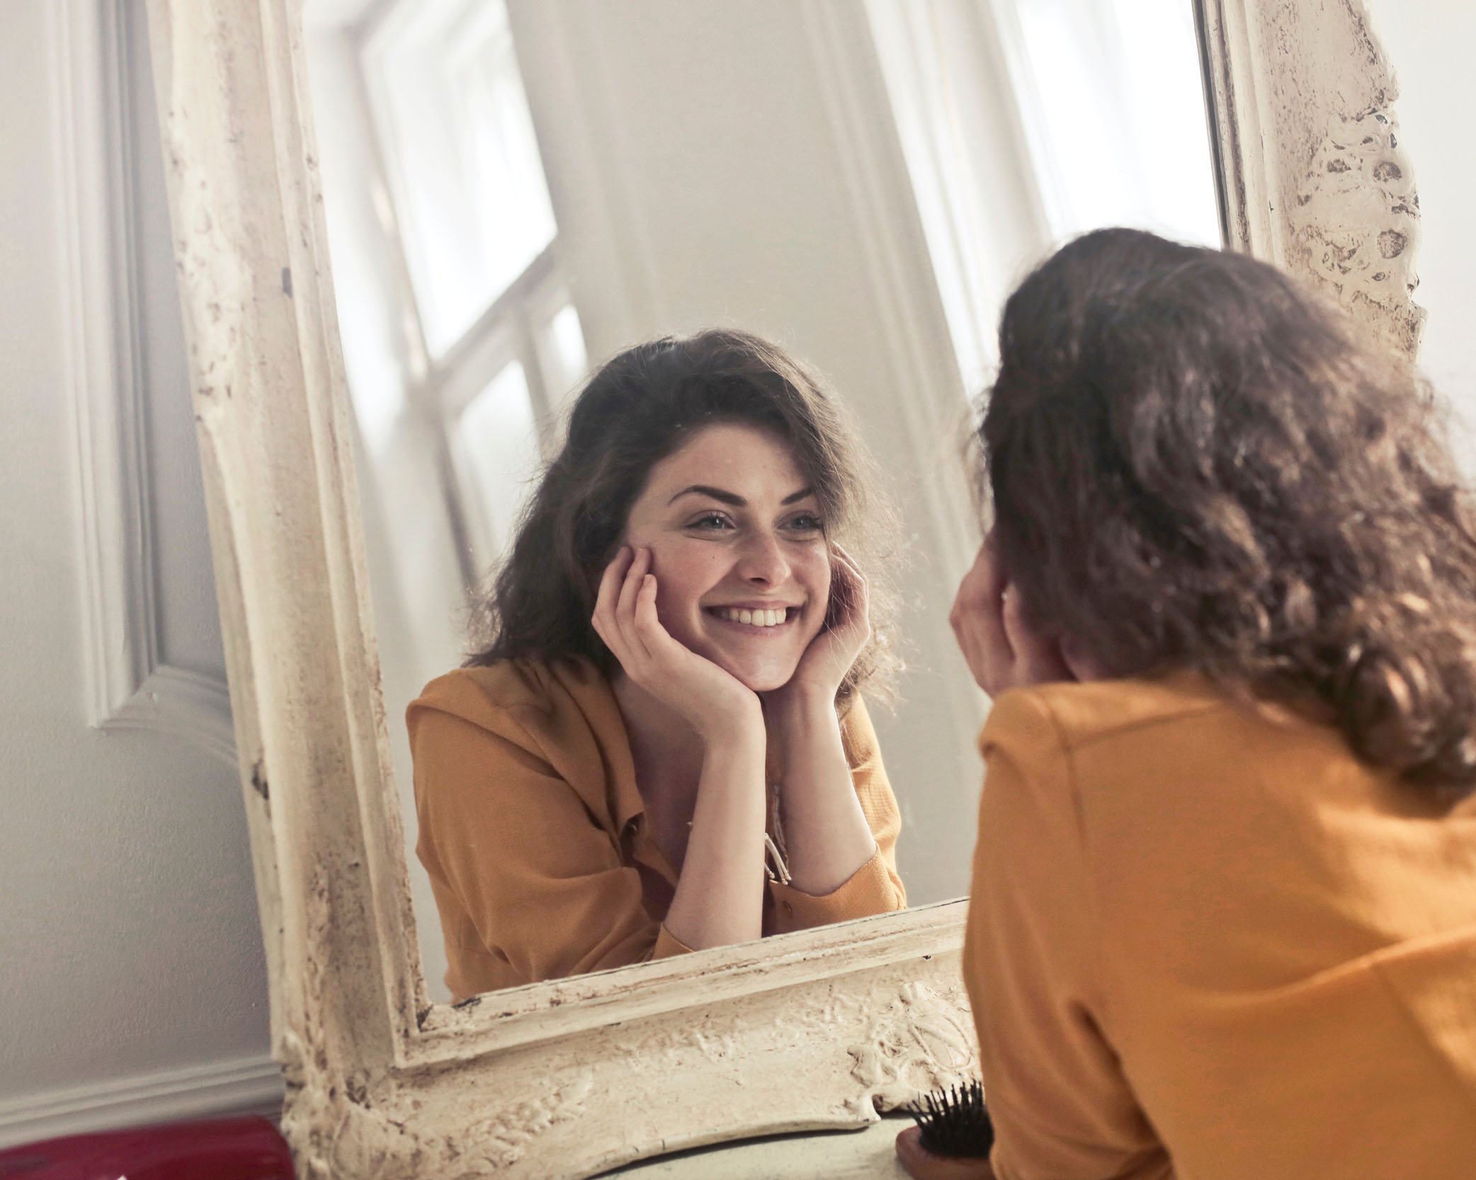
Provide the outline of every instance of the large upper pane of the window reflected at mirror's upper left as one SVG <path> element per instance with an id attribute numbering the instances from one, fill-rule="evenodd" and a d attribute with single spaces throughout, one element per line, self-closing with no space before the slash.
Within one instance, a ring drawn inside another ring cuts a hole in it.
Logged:
<path id="1" fill-rule="evenodd" d="M 427 345 L 440 357 L 554 240 L 503 0 L 401 0 L 365 52 Z"/>

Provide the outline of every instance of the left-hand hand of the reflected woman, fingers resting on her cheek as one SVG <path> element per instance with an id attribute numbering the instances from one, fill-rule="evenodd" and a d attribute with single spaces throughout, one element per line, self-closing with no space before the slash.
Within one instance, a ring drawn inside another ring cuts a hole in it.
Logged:
<path id="1" fill-rule="evenodd" d="M 756 727 L 759 695 L 735 676 L 675 640 L 655 611 L 651 550 L 621 546 L 599 580 L 590 622 L 639 687 L 710 740 Z"/>

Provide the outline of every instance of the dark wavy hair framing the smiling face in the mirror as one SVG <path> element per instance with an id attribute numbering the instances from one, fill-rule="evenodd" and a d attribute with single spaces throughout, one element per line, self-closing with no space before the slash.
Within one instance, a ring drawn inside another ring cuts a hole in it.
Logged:
<path id="1" fill-rule="evenodd" d="M 607 361 L 568 414 L 565 441 L 518 522 L 512 549 L 472 611 L 468 665 L 584 658 L 618 662 L 590 624 L 599 577 L 624 535 L 651 468 L 720 422 L 773 431 L 794 451 L 821 503 L 825 535 L 866 574 L 871 642 L 837 693 L 890 689 L 900 668 L 886 577 L 896 516 L 840 401 L 809 367 L 750 332 L 713 329 L 639 344 Z"/>

